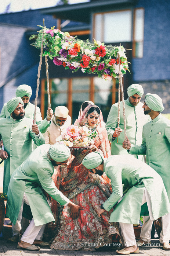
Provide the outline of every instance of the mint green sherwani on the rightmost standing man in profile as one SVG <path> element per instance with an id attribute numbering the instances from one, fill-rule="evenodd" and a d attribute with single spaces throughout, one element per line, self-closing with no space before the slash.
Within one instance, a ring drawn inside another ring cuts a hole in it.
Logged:
<path id="1" fill-rule="evenodd" d="M 170 201 L 170 121 L 161 114 L 144 125 L 142 144 L 131 144 L 130 154 L 147 155 L 146 162 L 163 179 Z"/>

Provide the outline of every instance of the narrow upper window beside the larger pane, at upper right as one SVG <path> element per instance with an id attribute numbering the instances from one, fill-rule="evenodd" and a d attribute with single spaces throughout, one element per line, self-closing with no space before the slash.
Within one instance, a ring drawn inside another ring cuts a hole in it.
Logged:
<path id="1" fill-rule="evenodd" d="M 134 31 L 133 31 L 133 57 L 143 57 L 144 44 L 144 9 L 134 10 Z"/>

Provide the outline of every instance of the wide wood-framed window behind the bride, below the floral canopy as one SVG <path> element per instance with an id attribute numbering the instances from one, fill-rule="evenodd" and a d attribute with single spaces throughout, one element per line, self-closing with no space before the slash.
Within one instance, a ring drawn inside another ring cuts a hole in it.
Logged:
<path id="1" fill-rule="evenodd" d="M 69 79 L 49 79 L 51 108 L 64 105 L 69 109 L 72 123 L 79 115 L 82 103 L 86 100 L 93 101 L 102 111 L 106 122 L 110 108 L 118 101 L 118 79 L 111 81 L 99 77 L 76 77 Z M 48 109 L 47 82 L 41 80 L 41 114 L 44 118 Z"/>

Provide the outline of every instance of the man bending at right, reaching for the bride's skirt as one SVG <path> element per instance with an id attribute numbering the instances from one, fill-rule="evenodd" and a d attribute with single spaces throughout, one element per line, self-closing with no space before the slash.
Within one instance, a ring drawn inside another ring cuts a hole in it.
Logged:
<path id="1" fill-rule="evenodd" d="M 139 223 L 141 205 L 147 202 L 152 220 L 162 216 L 166 218 L 170 212 L 169 199 L 162 178 L 146 163 L 130 155 L 109 156 L 108 159 L 104 159 L 103 155 L 94 152 L 89 153 L 82 163 L 90 172 L 98 175 L 105 172 L 111 179 L 112 194 L 98 208 L 97 214 L 101 217 L 105 210 L 110 211 L 119 202 L 109 220 L 119 222 L 124 240 L 125 248 L 117 253 L 139 253 L 133 224 Z"/>

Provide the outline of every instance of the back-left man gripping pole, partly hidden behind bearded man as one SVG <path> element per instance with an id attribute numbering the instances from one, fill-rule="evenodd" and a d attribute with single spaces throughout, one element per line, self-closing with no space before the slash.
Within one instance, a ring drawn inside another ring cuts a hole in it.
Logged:
<path id="1" fill-rule="evenodd" d="M 22 101 L 24 103 L 25 117 L 33 119 L 35 106 L 29 101 L 32 95 L 31 87 L 28 86 L 27 84 L 21 84 L 17 87 L 15 94 L 17 97 L 22 98 Z M 8 116 L 10 116 L 10 114 L 7 110 L 7 103 L 5 103 L 1 110 L 0 118 L 6 118 Z M 44 133 L 46 129 L 50 126 L 51 124 L 50 120 L 52 116 L 53 116 L 53 110 L 51 108 L 48 108 L 47 117 L 43 120 L 41 117 L 40 108 L 37 107 L 36 124 L 39 126 L 41 133 Z M 2 142 L 1 142 L 1 145 L 3 145 Z"/>

